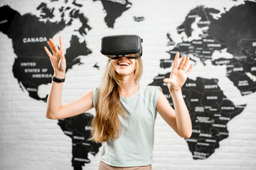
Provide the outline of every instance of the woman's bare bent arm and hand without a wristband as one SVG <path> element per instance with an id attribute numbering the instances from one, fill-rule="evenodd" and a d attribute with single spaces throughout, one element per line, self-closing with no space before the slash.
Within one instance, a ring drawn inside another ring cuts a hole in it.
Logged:
<path id="1" fill-rule="evenodd" d="M 169 101 L 161 91 L 156 104 L 156 109 L 162 118 L 164 118 L 166 123 L 168 123 L 178 135 L 181 137 L 189 138 L 192 134 L 192 124 L 190 115 L 188 113 L 188 108 L 186 107 L 186 103 L 183 100 L 181 86 L 183 86 L 185 83 L 193 65 L 191 64 L 185 73 L 189 57 L 183 56 L 177 69 L 176 67 L 178 64 L 178 57 L 179 53 L 176 54 L 174 59 L 174 66 L 171 70 L 170 77 L 168 79 L 164 79 L 164 82 L 168 83 L 171 98 L 174 102 L 175 111 L 173 108 L 171 108 Z"/>

